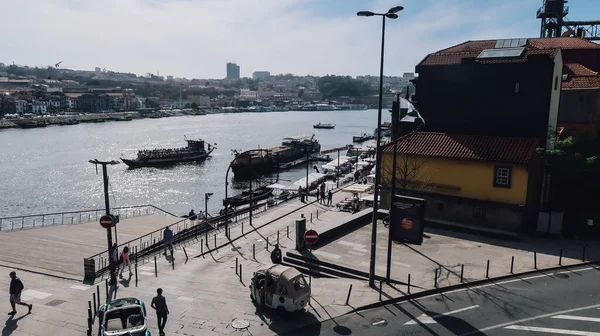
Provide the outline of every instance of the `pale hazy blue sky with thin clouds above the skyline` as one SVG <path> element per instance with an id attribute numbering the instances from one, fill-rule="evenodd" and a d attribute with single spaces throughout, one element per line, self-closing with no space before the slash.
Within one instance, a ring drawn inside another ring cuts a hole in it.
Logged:
<path id="1" fill-rule="evenodd" d="M 0 62 L 138 75 L 224 78 L 225 64 L 297 75 L 414 72 L 467 40 L 538 37 L 542 0 L 0 0 Z M 600 0 L 570 0 L 570 20 L 600 20 Z"/>

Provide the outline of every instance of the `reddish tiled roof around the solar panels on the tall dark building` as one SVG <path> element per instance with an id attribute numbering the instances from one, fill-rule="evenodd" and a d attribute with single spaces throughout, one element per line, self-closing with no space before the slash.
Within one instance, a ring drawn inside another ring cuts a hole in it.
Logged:
<path id="1" fill-rule="evenodd" d="M 474 59 L 485 49 L 494 49 L 497 40 L 467 41 L 431 53 L 419 65 L 461 64 L 463 59 Z M 518 58 L 478 60 L 480 63 L 523 63 L 528 55 L 552 55 L 556 49 L 600 49 L 600 45 L 575 37 L 530 38 L 525 52 Z"/>

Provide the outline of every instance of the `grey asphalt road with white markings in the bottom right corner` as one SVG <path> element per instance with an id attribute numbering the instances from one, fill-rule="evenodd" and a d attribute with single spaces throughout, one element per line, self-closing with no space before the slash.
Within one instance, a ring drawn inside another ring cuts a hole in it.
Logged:
<path id="1" fill-rule="evenodd" d="M 600 267 L 540 273 L 344 315 L 289 335 L 600 336 Z"/>

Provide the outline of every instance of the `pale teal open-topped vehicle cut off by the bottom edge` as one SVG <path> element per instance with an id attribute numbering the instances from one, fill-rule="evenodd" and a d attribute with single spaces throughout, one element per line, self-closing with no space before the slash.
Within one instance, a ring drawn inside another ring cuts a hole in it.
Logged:
<path id="1" fill-rule="evenodd" d="M 122 298 L 100 306 L 99 336 L 150 336 L 146 326 L 146 305 L 136 298 Z"/>

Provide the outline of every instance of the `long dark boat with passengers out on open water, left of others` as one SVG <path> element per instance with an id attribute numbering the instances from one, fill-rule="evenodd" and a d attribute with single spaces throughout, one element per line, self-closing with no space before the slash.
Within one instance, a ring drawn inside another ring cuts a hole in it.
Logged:
<path id="1" fill-rule="evenodd" d="M 187 141 L 187 147 L 141 150 L 138 151 L 137 158 L 121 158 L 121 161 L 129 168 L 164 167 L 180 162 L 202 161 L 216 148 L 202 139 L 189 140 L 185 138 L 185 141 Z"/>

